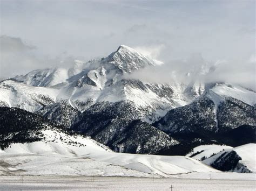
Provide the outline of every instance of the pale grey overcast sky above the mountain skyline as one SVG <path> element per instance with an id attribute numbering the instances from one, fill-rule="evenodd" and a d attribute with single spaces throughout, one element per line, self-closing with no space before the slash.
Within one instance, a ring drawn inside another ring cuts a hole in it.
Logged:
<path id="1" fill-rule="evenodd" d="M 255 60 L 255 1 L 0 1 L 0 77 L 106 56 L 120 44 L 166 63 L 193 54 Z"/>

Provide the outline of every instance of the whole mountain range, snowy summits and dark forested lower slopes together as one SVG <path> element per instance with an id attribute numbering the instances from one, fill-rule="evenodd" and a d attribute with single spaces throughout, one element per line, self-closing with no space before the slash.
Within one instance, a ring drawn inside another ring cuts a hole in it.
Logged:
<path id="1" fill-rule="evenodd" d="M 26 121 L 30 128 L 42 126 L 42 116 L 117 152 L 184 155 L 201 144 L 255 142 L 254 91 L 236 84 L 152 84 L 125 77 L 156 65 L 121 45 L 105 58 L 76 60 L 70 69 L 35 70 L 1 81 L 0 106 L 33 112 Z M 211 71 L 204 63 L 193 75 Z"/>

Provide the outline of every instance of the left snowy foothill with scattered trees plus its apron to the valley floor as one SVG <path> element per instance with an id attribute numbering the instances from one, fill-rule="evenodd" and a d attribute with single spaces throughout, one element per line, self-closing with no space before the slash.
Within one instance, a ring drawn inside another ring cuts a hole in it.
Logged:
<path id="1" fill-rule="evenodd" d="M 0 165 L 0 174 L 148 176 L 133 169 L 79 157 L 91 152 L 111 152 L 90 138 L 72 137 L 52 130 L 45 130 L 44 135 L 44 142 L 12 144 L 2 151 L 0 158 L 4 165 Z"/>

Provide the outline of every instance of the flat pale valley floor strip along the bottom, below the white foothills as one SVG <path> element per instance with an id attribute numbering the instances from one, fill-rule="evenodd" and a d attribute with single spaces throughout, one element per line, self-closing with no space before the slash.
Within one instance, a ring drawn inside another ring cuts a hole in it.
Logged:
<path id="1" fill-rule="evenodd" d="M 230 178 L 232 178 L 232 174 Z M 219 175 L 219 174 L 218 174 Z M 252 174 L 253 175 L 253 174 Z M 254 178 L 253 178 L 254 176 Z M 100 176 L 0 176 L 0 190 L 255 190 L 252 180 Z M 220 176 L 221 177 L 221 176 Z M 242 177 L 242 176 L 241 176 Z M 227 177 L 226 177 L 227 178 Z"/>

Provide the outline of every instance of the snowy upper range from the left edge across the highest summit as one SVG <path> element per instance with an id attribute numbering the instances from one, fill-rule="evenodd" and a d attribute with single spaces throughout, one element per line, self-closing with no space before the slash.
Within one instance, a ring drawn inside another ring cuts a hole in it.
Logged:
<path id="1" fill-rule="evenodd" d="M 167 110 L 184 104 L 182 95 L 174 91 L 174 87 L 169 84 L 150 84 L 125 79 L 124 74 L 156 64 L 134 49 L 122 45 L 106 58 L 86 63 L 76 61 L 76 67 L 69 70 L 35 70 L 16 76 L 12 81 L 3 81 L 0 91 L 4 96 L 0 101 L 2 105 L 22 105 L 22 108 L 34 112 L 42 108 L 42 104 L 35 101 L 39 94 L 50 97 L 54 102 L 66 101 L 79 111 L 98 102 L 128 100 L 138 109 L 146 108 L 147 112 L 142 112 L 142 115 L 148 122 L 153 122 Z M 29 86 L 23 86 L 23 83 Z M 45 89 L 32 88 L 31 91 L 31 86 L 41 86 Z"/>

